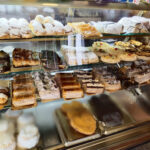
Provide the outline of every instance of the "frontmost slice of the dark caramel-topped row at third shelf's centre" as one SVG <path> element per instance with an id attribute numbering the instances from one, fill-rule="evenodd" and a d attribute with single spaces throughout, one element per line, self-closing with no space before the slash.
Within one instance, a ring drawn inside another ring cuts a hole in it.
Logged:
<path id="1" fill-rule="evenodd" d="M 64 99 L 76 99 L 84 96 L 83 90 L 81 88 L 77 89 L 62 89 L 62 96 Z"/>

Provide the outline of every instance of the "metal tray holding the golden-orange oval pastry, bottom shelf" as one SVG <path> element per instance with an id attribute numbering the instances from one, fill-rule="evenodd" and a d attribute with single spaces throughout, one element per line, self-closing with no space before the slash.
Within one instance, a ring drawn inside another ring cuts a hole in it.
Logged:
<path id="1" fill-rule="evenodd" d="M 96 119 L 81 102 L 65 103 L 55 111 L 55 121 L 65 146 L 71 146 L 101 136 Z"/>

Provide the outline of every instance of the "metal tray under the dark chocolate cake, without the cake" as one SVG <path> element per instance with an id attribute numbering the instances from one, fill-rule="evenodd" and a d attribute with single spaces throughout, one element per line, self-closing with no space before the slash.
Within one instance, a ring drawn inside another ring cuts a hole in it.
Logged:
<path id="1" fill-rule="evenodd" d="M 91 107 L 90 103 L 88 103 L 88 107 L 91 109 L 92 113 L 96 117 L 97 115 L 96 115 L 94 109 Z M 133 126 L 134 120 L 132 119 L 132 117 L 130 117 L 130 115 L 128 115 L 128 113 L 126 111 L 124 111 L 124 109 L 120 109 L 120 111 L 123 115 L 124 123 L 122 125 L 118 125 L 115 127 L 107 127 L 104 122 L 102 122 L 101 120 L 98 120 L 98 118 L 96 117 L 97 121 L 99 123 L 99 128 L 102 130 L 104 135 L 110 135 L 110 134 L 125 130 L 125 129 Z"/>

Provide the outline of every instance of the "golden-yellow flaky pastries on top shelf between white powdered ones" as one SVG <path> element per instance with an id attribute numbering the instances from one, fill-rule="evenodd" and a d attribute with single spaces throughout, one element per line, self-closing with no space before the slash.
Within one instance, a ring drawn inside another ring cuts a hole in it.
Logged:
<path id="1" fill-rule="evenodd" d="M 84 37 L 100 37 L 101 33 L 92 25 L 85 22 L 68 23 L 72 30 Z"/>

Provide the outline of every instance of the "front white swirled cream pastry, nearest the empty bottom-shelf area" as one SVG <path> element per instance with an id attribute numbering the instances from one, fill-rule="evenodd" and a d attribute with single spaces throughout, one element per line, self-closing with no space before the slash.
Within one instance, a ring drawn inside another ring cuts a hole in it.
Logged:
<path id="1" fill-rule="evenodd" d="M 20 148 L 31 149 L 39 142 L 40 134 L 35 125 L 27 125 L 22 128 L 17 137 L 17 146 Z"/>

